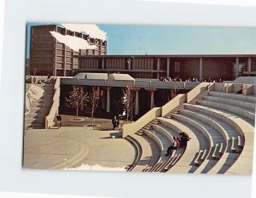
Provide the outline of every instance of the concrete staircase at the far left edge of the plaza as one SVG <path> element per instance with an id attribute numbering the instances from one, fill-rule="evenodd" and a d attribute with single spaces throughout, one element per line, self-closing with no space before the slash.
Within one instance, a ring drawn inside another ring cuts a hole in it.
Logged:
<path id="1" fill-rule="evenodd" d="M 25 116 L 25 128 L 44 128 L 45 116 L 48 116 L 54 95 L 54 84 L 37 84 L 44 89 L 41 99 L 33 101 L 29 114 Z"/>

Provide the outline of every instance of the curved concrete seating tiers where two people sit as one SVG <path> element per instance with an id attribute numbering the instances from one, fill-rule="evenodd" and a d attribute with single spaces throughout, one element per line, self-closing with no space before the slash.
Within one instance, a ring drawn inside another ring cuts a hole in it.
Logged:
<path id="1" fill-rule="evenodd" d="M 205 91 L 137 132 L 147 135 L 159 158 L 147 172 L 250 174 L 256 96 Z M 172 137 L 189 133 L 185 150 L 164 156 Z M 151 147 L 152 148 L 152 147 Z"/>

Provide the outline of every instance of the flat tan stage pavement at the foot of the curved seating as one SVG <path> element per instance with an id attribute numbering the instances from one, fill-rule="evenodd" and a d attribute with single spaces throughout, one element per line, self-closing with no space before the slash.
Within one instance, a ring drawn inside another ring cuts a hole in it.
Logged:
<path id="1" fill-rule="evenodd" d="M 96 119 L 96 126 L 90 127 L 89 118 L 71 122 L 72 118 L 62 116 L 63 127 L 59 129 L 26 130 L 24 168 L 125 171 L 132 164 L 136 152 L 128 141 L 121 139 L 119 131 L 112 130 L 110 120 Z"/>

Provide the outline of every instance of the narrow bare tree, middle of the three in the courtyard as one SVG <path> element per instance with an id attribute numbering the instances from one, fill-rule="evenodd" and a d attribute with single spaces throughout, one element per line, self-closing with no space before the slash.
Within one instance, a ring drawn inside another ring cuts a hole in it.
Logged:
<path id="1" fill-rule="evenodd" d="M 100 93 L 98 91 L 98 88 L 92 87 L 92 90 L 89 93 L 88 103 L 85 104 L 86 108 L 91 112 L 91 117 L 90 117 L 91 126 L 93 126 L 93 115 L 99 104 L 99 99 L 100 99 Z"/>

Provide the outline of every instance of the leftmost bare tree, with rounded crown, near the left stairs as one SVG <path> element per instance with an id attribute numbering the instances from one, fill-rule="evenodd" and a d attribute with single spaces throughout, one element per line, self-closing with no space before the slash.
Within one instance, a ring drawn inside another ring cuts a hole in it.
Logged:
<path id="1" fill-rule="evenodd" d="M 82 86 L 73 86 L 73 90 L 69 93 L 68 98 L 66 98 L 66 105 L 70 108 L 75 108 L 77 110 L 76 120 L 78 120 L 79 107 L 85 105 L 88 100 L 88 95 L 84 91 Z"/>

